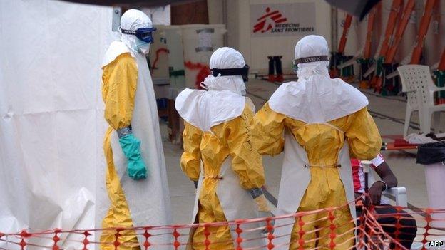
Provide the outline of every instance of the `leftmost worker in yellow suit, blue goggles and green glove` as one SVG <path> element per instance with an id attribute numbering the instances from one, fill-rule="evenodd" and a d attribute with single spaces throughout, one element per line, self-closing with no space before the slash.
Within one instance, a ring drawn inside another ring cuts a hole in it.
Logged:
<path id="1" fill-rule="evenodd" d="M 158 110 L 145 58 L 155 28 L 142 11 L 130 9 L 122 15 L 120 31 L 121 41 L 111 43 L 102 66 L 105 119 L 110 125 L 103 142 L 109 202 L 98 203 L 104 216 L 102 227 L 170 224 Z M 101 249 L 114 249 L 114 234 L 103 231 L 101 241 L 111 244 L 101 244 Z M 120 234 L 126 235 L 118 239 L 119 249 L 139 249 L 145 241 L 143 236 L 134 236 L 134 231 Z M 149 241 L 166 244 L 170 237 L 153 236 Z"/>

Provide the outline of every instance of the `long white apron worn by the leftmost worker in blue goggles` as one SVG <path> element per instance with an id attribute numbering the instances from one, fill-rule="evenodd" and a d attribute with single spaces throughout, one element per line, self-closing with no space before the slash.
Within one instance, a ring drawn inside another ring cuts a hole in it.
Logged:
<path id="1" fill-rule="evenodd" d="M 140 142 L 140 154 L 147 165 L 147 179 L 135 181 L 128 177 L 127 159 L 123 155 L 119 144 L 118 134 L 113 131 L 111 135 L 111 147 L 113 149 L 113 161 L 116 166 L 121 186 L 126 196 L 126 201 L 131 213 L 134 226 L 158 226 L 171 224 L 170 194 L 168 189 L 167 174 L 165 170 L 164 151 L 162 138 L 160 136 L 158 109 L 156 105 L 153 83 L 148 70 L 145 56 L 140 53 L 132 53 L 121 42 L 114 42 L 107 51 L 106 61 L 116 58 L 121 53 L 131 53 L 138 66 L 138 83 L 135 93 L 135 107 L 131 127 L 133 135 Z M 116 48 L 116 51 L 111 51 Z M 103 197 L 101 197 L 103 198 Z M 105 197 L 108 199 L 108 197 Z M 107 202 L 106 202 L 107 203 Z M 108 201 L 108 204 L 110 202 Z M 109 207 L 109 205 L 108 205 Z M 108 209 L 105 208 L 105 211 Z M 102 214 L 100 217 L 103 219 Z M 153 231 L 158 234 L 160 231 Z M 171 236 L 155 236 L 150 242 L 170 243 Z M 138 236 L 141 244 L 145 241 L 144 236 Z M 159 249 L 159 246 L 156 247 Z"/>

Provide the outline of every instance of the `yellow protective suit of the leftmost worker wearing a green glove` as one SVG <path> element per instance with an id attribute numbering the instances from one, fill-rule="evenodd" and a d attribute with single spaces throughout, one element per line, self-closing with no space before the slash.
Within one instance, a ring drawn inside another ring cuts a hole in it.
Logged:
<path id="1" fill-rule="evenodd" d="M 108 197 L 111 198 L 111 204 L 113 205 L 108 209 L 108 213 L 103 219 L 102 228 L 133 226 L 130 209 L 128 209 L 120 178 L 113 162 L 111 133 L 114 130 L 120 130 L 130 125 L 133 115 L 137 76 L 138 67 L 136 66 L 134 58 L 128 53 L 121 54 L 115 61 L 103 68 L 102 96 L 105 103 L 105 119 L 110 125 L 106 132 L 105 140 L 103 141 L 103 150 L 105 152 L 108 169 L 106 172 L 106 186 L 108 189 Z M 122 234 L 135 234 L 135 231 L 123 231 Z M 104 233 L 101 236 L 101 241 L 113 242 L 115 238 L 113 233 Z M 138 244 L 136 236 L 123 236 L 119 240 L 124 243 Z M 103 246 L 103 249 L 107 249 L 106 246 Z M 112 249 L 112 246 L 110 246 L 110 249 Z M 139 249 L 139 247 L 135 249 Z"/>

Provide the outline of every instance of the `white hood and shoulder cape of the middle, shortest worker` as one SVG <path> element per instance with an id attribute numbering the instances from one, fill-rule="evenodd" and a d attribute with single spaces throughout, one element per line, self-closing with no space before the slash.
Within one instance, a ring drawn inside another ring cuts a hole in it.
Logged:
<path id="1" fill-rule="evenodd" d="M 210 57 L 210 68 L 242 68 L 245 66 L 241 53 L 233 48 L 218 48 Z M 242 114 L 246 100 L 242 96 L 245 85 L 240 75 L 209 75 L 201 83 L 205 90 L 185 89 L 179 93 L 175 108 L 191 125 L 203 131 L 220 123 L 235 119 Z M 250 104 L 252 110 L 254 107 Z"/>

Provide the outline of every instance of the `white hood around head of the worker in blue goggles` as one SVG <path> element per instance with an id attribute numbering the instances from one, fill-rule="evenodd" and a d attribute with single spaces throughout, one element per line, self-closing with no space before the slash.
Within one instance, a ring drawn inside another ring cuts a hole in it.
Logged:
<path id="1" fill-rule="evenodd" d="M 153 24 L 150 18 L 142 11 L 129 9 L 121 17 L 121 29 L 136 31 L 138 28 L 152 28 Z M 135 53 L 148 53 L 150 43 L 140 41 L 136 36 L 124 34 L 121 32 L 121 41 Z"/>

